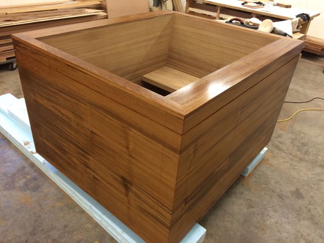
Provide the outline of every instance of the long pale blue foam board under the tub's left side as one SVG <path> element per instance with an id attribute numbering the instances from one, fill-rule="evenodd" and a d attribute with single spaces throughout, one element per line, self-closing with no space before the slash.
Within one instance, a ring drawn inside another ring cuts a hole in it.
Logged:
<path id="1" fill-rule="evenodd" d="M 41 155 L 35 153 L 24 99 L 18 100 L 11 94 L 0 96 L 0 132 L 119 243 L 145 243 L 143 239 L 104 209 L 91 196 L 56 170 Z M 195 224 L 181 243 L 201 243 L 204 241 L 205 235 L 206 229 Z"/>

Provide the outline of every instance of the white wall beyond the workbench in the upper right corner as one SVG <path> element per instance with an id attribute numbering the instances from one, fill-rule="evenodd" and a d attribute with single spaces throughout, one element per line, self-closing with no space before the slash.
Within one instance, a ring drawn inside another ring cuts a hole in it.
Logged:
<path id="1" fill-rule="evenodd" d="M 280 1 L 277 0 L 277 2 Z M 282 3 L 291 4 L 293 8 L 303 8 L 320 12 L 320 15 L 315 17 L 310 23 L 308 35 L 324 39 L 324 0 L 282 0 Z"/>

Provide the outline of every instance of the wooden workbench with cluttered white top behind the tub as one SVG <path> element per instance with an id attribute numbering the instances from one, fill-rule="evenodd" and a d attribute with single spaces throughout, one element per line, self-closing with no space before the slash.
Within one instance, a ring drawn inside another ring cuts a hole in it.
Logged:
<path id="1" fill-rule="evenodd" d="M 271 19 L 273 21 L 290 20 L 296 18 L 296 15 L 307 13 L 310 16 L 310 21 L 302 24 L 299 39 L 304 39 L 307 34 L 311 20 L 319 16 L 317 11 L 300 9 L 300 8 L 281 8 L 278 6 L 265 6 L 264 8 L 252 9 L 242 6 L 242 1 L 239 0 L 203 0 L 199 4 L 194 0 L 187 0 L 186 13 L 194 15 L 205 15 L 208 18 L 218 20 L 220 15 L 231 15 L 240 18 L 256 17 L 261 20 Z"/>

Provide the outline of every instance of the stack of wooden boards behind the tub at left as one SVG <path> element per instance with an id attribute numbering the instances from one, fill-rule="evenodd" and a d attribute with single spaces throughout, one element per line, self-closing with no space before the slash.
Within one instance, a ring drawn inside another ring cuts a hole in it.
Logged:
<path id="1" fill-rule="evenodd" d="M 102 0 L 0 6 L 0 63 L 15 57 L 11 34 L 107 18 Z"/>

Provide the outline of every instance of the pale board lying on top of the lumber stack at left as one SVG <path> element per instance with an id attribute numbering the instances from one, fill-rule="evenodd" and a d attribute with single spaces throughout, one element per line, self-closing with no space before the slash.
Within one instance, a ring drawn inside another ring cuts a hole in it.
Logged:
<path id="1" fill-rule="evenodd" d="M 68 9 L 68 8 L 78 8 L 78 7 L 86 7 L 92 5 L 101 5 L 101 2 L 94 1 L 94 0 L 73 1 L 73 2 L 63 3 L 63 4 L 44 5 L 44 6 L 37 6 L 37 7 L 7 8 L 7 9 L 1 9 L 0 14 L 27 13 L 27 12 L 46 11 L 46 10 L 55 10 L 55 9 Z"/>

